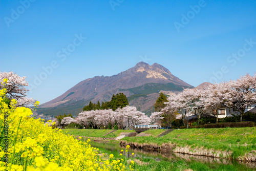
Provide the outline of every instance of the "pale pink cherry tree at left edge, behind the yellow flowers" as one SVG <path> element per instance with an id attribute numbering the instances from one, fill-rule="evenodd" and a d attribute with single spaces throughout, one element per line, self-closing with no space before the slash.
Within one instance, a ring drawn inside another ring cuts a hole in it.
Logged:
<path id="1" fill-rule="evenodd" d="M 0 81 L 3 81 L 4 78 L 8 79 L 5 87 L 7 89 L 6 97 L 15 99 L 16 106 L 27 106 L 35 102 L 34 99 L 26 97 L 26 93 L 29 91 L 25 88 L 29 86 L 26 77 L 20 77 L 13 72 L 0 72 Z M 2 84 L 0 84 L 0 89 L 3 89 Z"/>

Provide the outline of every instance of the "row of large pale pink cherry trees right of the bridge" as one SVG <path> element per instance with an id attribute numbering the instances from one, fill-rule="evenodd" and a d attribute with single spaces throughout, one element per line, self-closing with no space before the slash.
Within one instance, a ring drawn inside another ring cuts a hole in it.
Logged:
<path id="1" fill-rule="evenodd" d="M 160 95 L 161 96 L 161 95 Z M 168 98 L 161 96 L 161 108 L 155 108 L 162 112 L 162 121 L 167 117 L 176 118 L 180 114 L 185 121 L 185 116 L 196 115 L 198 124 L 204 116 L 214 116 L 219 120 L 219 111 L 225 106 L 230 109 L 230 115 L 239 116 L 242 122 L 248 105 L 256 103 L 256 73 L 254 76 L 246 74 L 237 80 L 212 84 L 205 89 L 184 89 L 178 94 L 172 94 Z"/>

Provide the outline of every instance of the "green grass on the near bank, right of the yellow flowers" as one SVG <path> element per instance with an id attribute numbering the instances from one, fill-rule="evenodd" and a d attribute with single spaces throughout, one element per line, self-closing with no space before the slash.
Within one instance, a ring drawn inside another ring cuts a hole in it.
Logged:
<path id="1" fill-rule="evenodd" d="M 93 146 L 93 145 L 92 145 Z M 118 160 L 120 158 L 123 158 L 126 163 L 126 168 L 129 168 L 129 160 L 135 161 L 135 170 L 143 170 L 143 171 L 183 171 L 186 169 L 192 169 L 194 171 L 240 171 L 240 170 L 255 170 L 247 168 L 245 165 L 239 164 L 239 163 L 233 163 L 233 164 L 220 164 L 215 162 L 210 163 L 201 163 L 194 160 L 185 161 L 185 160 L 168 160 L 161 158 L 160 161 L 156 160 L 152 157 L 147 156 L 137 156 L 137 157 L 129 157 L 125 159 L 124 156 L 120 157 L 120 149 L 118 148 L 116 150 L 109 150 L 105 149 L 103 144 L 102 147 L 99 147 L 97 145 L 97 148 L 99 148 L 99 153 L 104 153 L 105 156 L 109 156 L 110 154 L 114 155 L 114 159 Z M 140 164 L 138 163 L 140 162 Z"/>

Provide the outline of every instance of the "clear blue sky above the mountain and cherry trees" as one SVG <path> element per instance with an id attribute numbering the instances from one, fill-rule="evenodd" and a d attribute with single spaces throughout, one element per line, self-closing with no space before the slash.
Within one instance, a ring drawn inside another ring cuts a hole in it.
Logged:
<path id="1" fill-rule="evenodd" d="M 41 103 L 139 61 L 195 87 L 256 71 L 256 1 L 1 0 L 0 14 L 0 72 Z"/>

